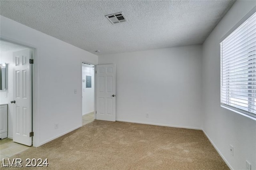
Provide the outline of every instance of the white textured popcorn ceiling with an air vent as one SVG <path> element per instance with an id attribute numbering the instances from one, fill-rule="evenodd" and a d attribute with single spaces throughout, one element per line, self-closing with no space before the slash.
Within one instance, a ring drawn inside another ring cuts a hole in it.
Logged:
<path id="1" fill-rule="evenodd" d="M 97 55 L 202 44 L 233 0 L 0 1 L 0 14 Z M 123 12 L 112 25 L 105 15 Z M 94 51 L 100 50 L 100 53 Z"/>

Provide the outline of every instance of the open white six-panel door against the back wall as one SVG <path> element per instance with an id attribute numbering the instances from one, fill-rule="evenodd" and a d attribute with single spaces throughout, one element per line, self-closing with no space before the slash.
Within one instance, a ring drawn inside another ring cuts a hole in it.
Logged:
<path id="1" fill-rule="evenodd" d="M 116 121 L 116 66 L 96 65 L 96 119 Z"/>

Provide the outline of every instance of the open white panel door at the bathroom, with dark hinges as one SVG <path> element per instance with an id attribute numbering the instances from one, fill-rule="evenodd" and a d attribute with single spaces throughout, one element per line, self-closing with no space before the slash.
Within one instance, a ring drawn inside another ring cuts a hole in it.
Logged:
<path id="1" fill-rule="evenodd" d="M 29 133 L 32 131 L 32 94 L 31 94 L 31 58 L 30 49 L 17 51 L 13 53 L 14 71 L 13 71 L 13 94 L 14 100 L 14 127 L 13 141 L 28 146 L 32 145 L 32 137 Z M 15 101 L 15 102 L 14 102 Z"/>

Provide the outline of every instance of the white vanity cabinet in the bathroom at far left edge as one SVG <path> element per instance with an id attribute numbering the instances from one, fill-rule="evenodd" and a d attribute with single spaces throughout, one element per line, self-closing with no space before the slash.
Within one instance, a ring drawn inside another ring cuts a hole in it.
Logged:
<path id="1" fill-rule="evenodd" d="M 7 138 L 8 105 L 0 105 L 0 139 Z"/>

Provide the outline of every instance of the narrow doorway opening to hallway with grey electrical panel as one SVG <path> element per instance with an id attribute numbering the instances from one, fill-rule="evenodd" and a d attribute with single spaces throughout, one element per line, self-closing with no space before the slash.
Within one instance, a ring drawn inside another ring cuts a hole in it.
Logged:
<path id="1" fill-rule="evenodd" d="M 94 121 L 94 65 L 82 62 L 82 125 Z"/>

